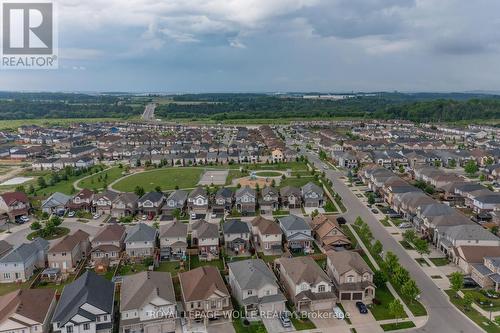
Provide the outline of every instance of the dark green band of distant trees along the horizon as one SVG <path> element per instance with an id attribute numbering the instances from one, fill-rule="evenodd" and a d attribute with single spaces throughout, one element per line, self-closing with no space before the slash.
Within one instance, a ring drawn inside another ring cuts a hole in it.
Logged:
<path id="1" fill-rule="evenodd" d="M 415 122 L 500 119 L 500 96 L 479 93 L 375 93 L 343 100 L 295 95 L 185 94 L 156 109 L 165 119 L 364 118 Z M 127 118 L 142 113 L 147 98 L 125 94 L 0 92 L 0 119 Z"/>

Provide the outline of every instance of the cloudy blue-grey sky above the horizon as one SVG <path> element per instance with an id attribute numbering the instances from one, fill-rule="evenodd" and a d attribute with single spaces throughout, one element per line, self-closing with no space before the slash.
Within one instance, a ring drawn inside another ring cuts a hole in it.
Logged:
<path id="1" fill-rule="evenodd" d="M 0 90 L 500 90 L 498 0 L 57 0 L 59 69 Z"/>

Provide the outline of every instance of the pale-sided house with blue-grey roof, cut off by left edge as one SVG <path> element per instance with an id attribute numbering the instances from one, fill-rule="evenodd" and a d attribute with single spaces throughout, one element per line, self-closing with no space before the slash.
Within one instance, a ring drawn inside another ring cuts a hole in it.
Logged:
<path id="1" fill-rule="evenodd" d="M 36 238 L 12 248 L 0 258 L 0 283 L 28 281 L 37 268 L 45 267 L 49 242 Z"/>

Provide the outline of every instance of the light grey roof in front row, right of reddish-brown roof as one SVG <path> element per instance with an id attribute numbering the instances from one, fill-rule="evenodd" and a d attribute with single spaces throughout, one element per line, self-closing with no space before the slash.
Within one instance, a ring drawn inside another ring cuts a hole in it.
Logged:
<path id="1" fill-rule="evenodd" d="M 260 289 L 265 285 L 277 286 L 276 276 L 262 259 L 247 259 L 228 263 L 241 289 Z"/>

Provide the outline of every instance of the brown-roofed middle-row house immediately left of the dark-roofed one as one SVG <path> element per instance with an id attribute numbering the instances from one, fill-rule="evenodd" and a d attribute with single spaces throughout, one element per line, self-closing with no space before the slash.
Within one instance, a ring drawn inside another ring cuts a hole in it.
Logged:
<path id="1" fill-rule="evenodd" d="M 219 225 L 197 220 L 191 226 L 191 240 L 202 260 L 219 258 Z"/>

